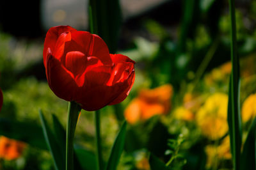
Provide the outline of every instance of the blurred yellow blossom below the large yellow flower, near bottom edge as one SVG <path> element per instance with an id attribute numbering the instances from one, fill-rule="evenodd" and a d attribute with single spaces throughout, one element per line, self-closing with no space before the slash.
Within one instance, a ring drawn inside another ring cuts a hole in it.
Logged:
<path id="1" fill-rule="evenodd" d="M 221 141 L 219 146 L 211 144 L 205 147 L 205 153 L 207 155 L 206 167 L 212 167 L 214 164 L 218 164 L 218 160 L 221 159 L 231 159 L 229 140 L 229 136 L 227 136 Z"/>

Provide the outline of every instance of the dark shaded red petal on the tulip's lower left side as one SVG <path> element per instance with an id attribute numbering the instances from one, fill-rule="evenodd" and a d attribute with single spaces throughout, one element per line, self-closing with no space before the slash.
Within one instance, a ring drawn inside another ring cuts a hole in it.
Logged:
<path id="1" fill-rule="evenodd" d="M 45 71 L 48 84 L 55 95 L 64 100 L 73 101 L 77 90 L 73 74 L 51 55 L 47 56 Z"/>

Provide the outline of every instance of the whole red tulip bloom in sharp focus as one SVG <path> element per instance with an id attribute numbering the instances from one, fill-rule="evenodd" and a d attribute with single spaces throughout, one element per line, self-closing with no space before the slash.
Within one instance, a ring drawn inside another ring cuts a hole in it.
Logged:
<path id="1" fill-rule="evenodd" d="M 134 83 L 134 61 L 109 54 L 97 35 L 70 26 L 51 27 L 44 43 L 48 84 L 60 98 L 86 111 L 122 102 Z"/>

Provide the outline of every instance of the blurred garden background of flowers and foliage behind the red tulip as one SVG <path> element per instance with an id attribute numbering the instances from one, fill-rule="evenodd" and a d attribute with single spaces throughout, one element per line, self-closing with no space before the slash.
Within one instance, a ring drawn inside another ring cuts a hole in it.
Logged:
<path id="1" fill-rule="evenodd" d="M 125 119 L 118 169 L 150 169 L 149 153 L 173 169 L 232 169 L 228 1 L 120 0 L 120 9 L 116 53 L 136 61 L 136 80 L 122 104 L 102 109 L 104 160 Z M 236 1 L 236 22 L 245 139 L 256 114 L 256 1 Z M 66 126 L 67 102 L 49 88 L 42 57 L 47 30 L 60 25 L 89 31 L 88 1 L 1 1 L 0 169 L 54 169 L 38 110 L 49 124 L 54 114 Z M 76 151 L 92 164 L 94 135 L 93 113 L 82 111 Z"/>

